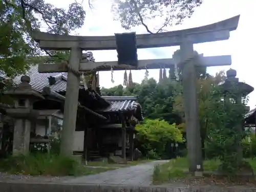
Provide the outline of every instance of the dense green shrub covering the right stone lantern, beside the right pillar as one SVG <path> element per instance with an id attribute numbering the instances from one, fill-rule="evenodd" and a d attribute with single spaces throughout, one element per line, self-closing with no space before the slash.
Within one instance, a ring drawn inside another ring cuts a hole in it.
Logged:
<path id="1" fill-rule="evenodd" d="M 217 89 L 215 95 L 220 95 L 219 91 Z M 210 113 L 206 149 L 207 154 L 220 159 L 222 163 L 220 169 L 223 172 L 232 174 L 239 169 L 242 160 L 238 147 L 246 136 L 242 129 L 245 105 L 239 100 L 231 99 L 237 98 L 236 91 L 230 92 L 228 98 L 223 100 L 221 96 L 217 97 L 205 110 L 205 113 Z"/>

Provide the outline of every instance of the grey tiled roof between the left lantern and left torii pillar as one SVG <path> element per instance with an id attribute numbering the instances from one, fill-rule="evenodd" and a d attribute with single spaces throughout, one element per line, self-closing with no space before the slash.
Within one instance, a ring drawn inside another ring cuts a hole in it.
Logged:
<path id="1" fill-rule="evenodd" d="M 67 73 L 38 73 L 38 66 L 32 66 L 29 71 L 27 72 L 27 75 L 30 76 L 30 84 L 32 86 L 32 89 L 42 93 L 42 89 L 44 87 L 50 86 L 49 85 L 49 79 L 48 77 L 52 76 L 58 76 L 59 74 L 62 74 L 64 77 L 67 78 Z M 13 82 L 15 84 L 20 83 L 20 78 L 22 75 L 18 75 L 14 77 Z M 65 91 L 67 86 L 67 82 L 65 79 L 60 78 L 59 81 L 57 81 L 55 84 L 53 84 L 51 89 L 56 92 Z"/>

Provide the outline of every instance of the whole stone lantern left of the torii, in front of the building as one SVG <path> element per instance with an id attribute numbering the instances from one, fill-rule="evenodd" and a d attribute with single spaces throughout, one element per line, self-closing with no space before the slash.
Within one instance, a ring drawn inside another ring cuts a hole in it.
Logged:
<path id="1" fill-rule="evenodd" d="M 7 109 L 7 115 L 15 119 L 13 129 L 13 155 L 29 153 L 31 120 L 39 115 L 33 110 L 33 103 L 38 99 L 44 99 L 31 87 L 30 77 L 22 76 L 17 88 L 5 92 L 14 99 L 14 108 Z"/>

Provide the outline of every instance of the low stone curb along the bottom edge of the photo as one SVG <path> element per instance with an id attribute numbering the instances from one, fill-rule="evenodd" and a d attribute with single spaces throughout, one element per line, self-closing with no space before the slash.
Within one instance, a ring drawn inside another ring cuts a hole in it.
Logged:
<path id="1" fill-rule="evenodd" d="M 0 182 L 0 192 L 256 192 L 256 187 L 131 186 L 104 184 Z"/>

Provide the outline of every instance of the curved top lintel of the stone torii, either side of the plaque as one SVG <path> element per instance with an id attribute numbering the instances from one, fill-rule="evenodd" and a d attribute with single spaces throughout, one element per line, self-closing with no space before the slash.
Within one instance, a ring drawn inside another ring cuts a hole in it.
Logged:
<path id="1" fill-rule="evenodd" d="M 229 39 L 229 32 L 238 27 L 240 15 L 214 24 L 156 34 L 136 35 L 137 48 L 179 46 L 184 36 L 193 44 Z M 32 31 L 32 38 L 45 50 L 70 50 L 77 46 L 82 50 L 115 50 L 115 36 L 73 36 Z"/>

